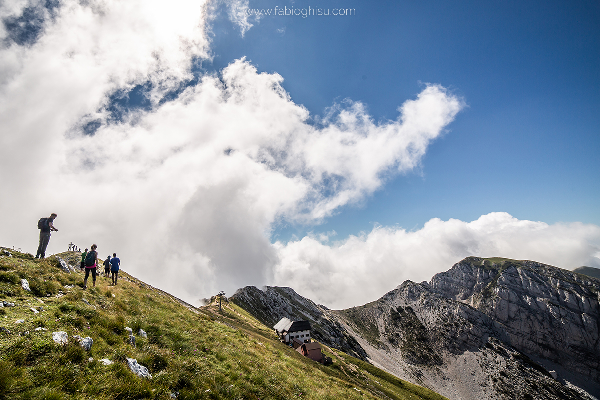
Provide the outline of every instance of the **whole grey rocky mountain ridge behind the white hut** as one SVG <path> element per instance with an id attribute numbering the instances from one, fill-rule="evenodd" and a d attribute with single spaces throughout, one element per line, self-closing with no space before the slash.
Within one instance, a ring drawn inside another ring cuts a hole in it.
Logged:
<path id="1" fill-rule="evenodd" d="M 232 297 L 268 326 L 281 317 L 308 319 L 320 342 L 465 400 L 600 397 L 598 299 L 597 279 L 476 257 L 429 284 L 407 281 L 343 311 L 290 288 L 247 287 Z"/>

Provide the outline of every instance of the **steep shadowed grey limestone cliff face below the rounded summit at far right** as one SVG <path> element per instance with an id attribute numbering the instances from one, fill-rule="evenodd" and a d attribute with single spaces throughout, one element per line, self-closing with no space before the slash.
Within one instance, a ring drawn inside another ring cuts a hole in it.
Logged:
<path id="1" fill-rule="evenodd" d="M 600 280 L 533 261 L 470 257 L 431 287 L 469 304 L 512 347 L 600 397 Z"/>

